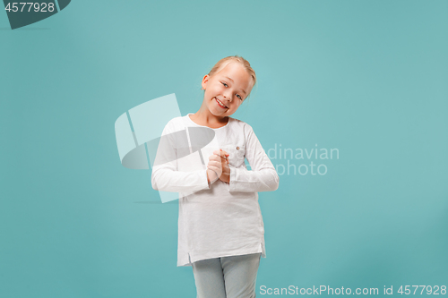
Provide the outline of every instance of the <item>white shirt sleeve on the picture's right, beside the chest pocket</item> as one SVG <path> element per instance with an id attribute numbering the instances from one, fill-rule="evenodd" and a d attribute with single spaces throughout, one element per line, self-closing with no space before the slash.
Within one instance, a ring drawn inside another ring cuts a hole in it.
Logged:
<path id="1" fill-rule="evenodd" d="M 230 166 L 230 192 L 272 192 L 279 188 L 279 175 L 252 127 L 246 123 L 246 154 L 252 170 Z"/>

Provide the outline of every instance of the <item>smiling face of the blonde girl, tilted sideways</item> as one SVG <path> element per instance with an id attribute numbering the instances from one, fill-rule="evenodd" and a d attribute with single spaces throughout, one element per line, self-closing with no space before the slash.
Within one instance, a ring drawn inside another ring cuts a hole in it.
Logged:
<path id="1" fill-rule="evenodd" d="M 251 76 L 241 64 L 229 63 L 220 72 L 203 77 L 203 102 L 212 115 L 232 115 L 249 95 L 251 83 Z"/>

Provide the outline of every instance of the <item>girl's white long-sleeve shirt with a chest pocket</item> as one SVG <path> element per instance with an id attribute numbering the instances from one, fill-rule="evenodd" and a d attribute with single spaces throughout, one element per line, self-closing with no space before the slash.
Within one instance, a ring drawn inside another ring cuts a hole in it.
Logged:
<path id="1" fill-rule="evenodd" d="M 162 136 L 205 127 L 194 123 L 189 115 L 192 114 L 170 120 Z M 185 149 L 160 149 L 159 145 L 156 159 L 165 158 L 165 162 L 152 167 L 151 183 L 155 190 L 179 192 L 177 266 L 256 252 L 266 257 L 257 192 L 277 190 L 279 175 L 249 124 L 228 117 L 225 126 L 210 130 L 214 132 L 213 140 L 196 151 L 194 146 L 192 149 L 186 145 L 192 152 L 186 156 Z M 180 135 L 176 136 L 178 140 Z M 191 144 L 189 135 L 185 140 Z M 206 166 L 214 149 L 229 154 L 229 183 L 207 182 Z"/>

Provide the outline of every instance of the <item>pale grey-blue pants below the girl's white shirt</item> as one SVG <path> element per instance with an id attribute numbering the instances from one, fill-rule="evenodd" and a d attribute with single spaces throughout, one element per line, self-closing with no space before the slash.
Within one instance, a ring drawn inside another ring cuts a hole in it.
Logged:
<path id="1" fill-rule="evenodd" d="M 197 298 L 254 298 L 261 253 L 194 262 Z"/>

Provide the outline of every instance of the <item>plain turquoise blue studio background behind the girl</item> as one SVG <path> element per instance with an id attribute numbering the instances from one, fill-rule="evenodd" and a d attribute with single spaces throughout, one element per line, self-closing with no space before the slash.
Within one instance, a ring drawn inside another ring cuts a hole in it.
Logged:
<path id="1" fill-rule="evenodd" d="M 447 13 L 437 0 L 78 0 L 18 30 L 0 13 L 0 296 L 195 297 L 177 204 L 120 164 L 114 123 L 170 93 L 196 112 L 228 55 L 257 73 L 234 116 L 266 151 L 340 151 L 312 159 L 326 175 L 260 193 L 257 296 L 447 285 Z"/>

